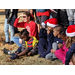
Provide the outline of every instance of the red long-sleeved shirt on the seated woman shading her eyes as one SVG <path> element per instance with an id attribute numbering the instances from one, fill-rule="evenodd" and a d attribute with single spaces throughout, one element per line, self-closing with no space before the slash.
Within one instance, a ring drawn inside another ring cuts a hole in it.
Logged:
<path id="1" fill-rule="evenodd" d="M 27 22 L 18 23 L 18 21 L 19 21 L 19 18 L 17 18 L 14 22 L 15 27 L 26 28 L 30 36 L 34 36 L 37 39 L 39 39 L 38 38 L 38 27 L 34 21 L 31 21 L 30 23 L 27 23 Z"/>

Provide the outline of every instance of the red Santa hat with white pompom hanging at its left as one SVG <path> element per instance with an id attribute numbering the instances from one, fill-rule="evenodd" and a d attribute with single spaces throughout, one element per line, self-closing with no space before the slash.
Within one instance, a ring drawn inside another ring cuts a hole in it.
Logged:
<path id="1" fill-rule="evenodd" d="M 54 27 L 58 26 L 58 20 L 56 18 L 51 18 L 51 19 L 48 19 L 45 22 L 43 22 L 41 25 L 45 26 L 46 24 L 47 24 L 47 26 L 54 28 Z"/>

